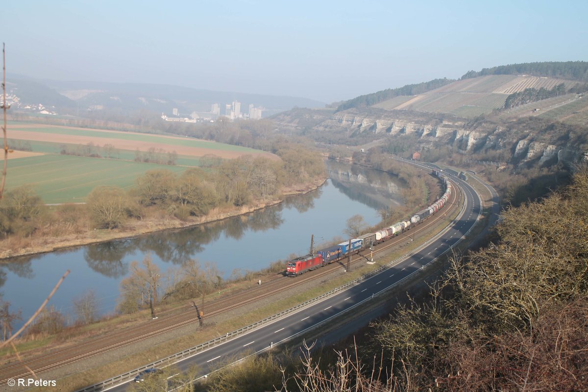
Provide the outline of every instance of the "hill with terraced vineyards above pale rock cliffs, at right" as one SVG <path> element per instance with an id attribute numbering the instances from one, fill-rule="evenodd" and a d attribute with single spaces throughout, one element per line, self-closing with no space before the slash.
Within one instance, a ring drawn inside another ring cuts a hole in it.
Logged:
<path id="1" fill-rule="evenodd" d="M 529 73 L 506 74 L 516 71 Z M 486 162 L 513 172 L 573 167 L 588 159 L 586 72 L 588 62 L 495 67 L 459 81 L 435 79 L 437 86 L 360 96 L 331 112 L 297 109 L 273 119 L 282 132 L 324 145 L 379 145 L 406 157 L 419 151 L 429 162 Z"/>

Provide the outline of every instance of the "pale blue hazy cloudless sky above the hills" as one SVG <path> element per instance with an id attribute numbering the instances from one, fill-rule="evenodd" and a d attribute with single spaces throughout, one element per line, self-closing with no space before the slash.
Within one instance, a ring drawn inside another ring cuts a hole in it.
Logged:
<path id="1" fill-rule="evenodd" d="M 588 1 L 6 1 L 7 72 L 334 102 L 470 69 L 588 61 Z"/>

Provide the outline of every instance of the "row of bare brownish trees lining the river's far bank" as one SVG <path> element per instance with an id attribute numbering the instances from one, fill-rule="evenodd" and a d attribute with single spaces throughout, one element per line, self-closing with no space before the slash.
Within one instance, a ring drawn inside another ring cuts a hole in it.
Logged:
<path id="1" fill-rule="evenodd" d="M 178 175 L 166 169 L 149 170 L 129 190 L 99 186 L 89 193 L 86 205 L 52 210 L 32 187 L 18 187 L 0 200 L 0 239 L 26 242 L 32 236 L 59 236 L 68 230 L 116 229 L 156 210 L 185 220 L 206 215 L 214 207 L 275 199 L 283 186 L 325 175 L 322 158 L 304 146 L 282 144 L 276 153 L 281 160 L 243 156 L 211 169 L 193 167 Z"/>

